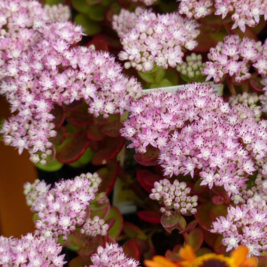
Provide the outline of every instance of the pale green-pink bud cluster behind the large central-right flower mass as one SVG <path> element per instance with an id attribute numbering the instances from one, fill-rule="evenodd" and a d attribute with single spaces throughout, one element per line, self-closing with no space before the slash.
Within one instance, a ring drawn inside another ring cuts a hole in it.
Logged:
<path id="1" fill-rule="evenodd" d="M 252 111 L 254 113 L 255 120 L 260 120 L 262 112 L 261 112 L 261 106 L 257 105 L 258 102 L 259 102 L 259 97 L 255 92 L 254 93 L 244 92 L 242 93 L 242 95 L 238 94 L 237 96 L 231 96 L 229 98 L 229 103 L 233 107 L 233 112 L 231 112 L 231 114 L 233 114 L 234 111 L 239 111 L 240 113 L 239 117 L 242 117 L 244 119 L 246 117 L 252 117 L 250 115 L 250 111 Z M 250 110 L 248 110 L 245 107 L 248 107 Z"/>

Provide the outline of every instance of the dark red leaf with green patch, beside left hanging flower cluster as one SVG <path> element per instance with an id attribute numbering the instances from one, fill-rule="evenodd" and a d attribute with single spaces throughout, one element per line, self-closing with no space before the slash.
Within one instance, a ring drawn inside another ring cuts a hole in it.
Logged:
<path id="1" fill-rule="evenodd" d="M 66 133 L 64 143 L 57 148 L 57 160 L 63 164 L 72 163 L 83 155 L 89 144 L 85 131 Z"/>

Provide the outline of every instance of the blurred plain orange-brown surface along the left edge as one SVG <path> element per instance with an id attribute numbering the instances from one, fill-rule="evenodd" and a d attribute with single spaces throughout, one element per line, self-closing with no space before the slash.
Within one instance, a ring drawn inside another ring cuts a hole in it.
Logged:
<path id="1" fill-rule="evenodd" d="M 0 96 L 0 119 L 9 117 L 9 105 Z M 37 179 L 37 171 L 29 160 L 28 151 L 22 155 L 0 142 L 0 235 L 20 237 L 34 231 L 33 213 L 26 205 L 23 184 Z"/>

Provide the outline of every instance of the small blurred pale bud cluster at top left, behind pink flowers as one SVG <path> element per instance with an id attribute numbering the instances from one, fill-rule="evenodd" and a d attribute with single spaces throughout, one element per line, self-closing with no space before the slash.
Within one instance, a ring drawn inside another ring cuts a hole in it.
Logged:
<path id="1" fill-rule="evenodd" d="M 62 5 L 61 3 L 53 6 L 45 5 L 44 10 L 47 14 L 49 14 L 50 22 L 68 21 L 70 18 L 69 6 Z"/>

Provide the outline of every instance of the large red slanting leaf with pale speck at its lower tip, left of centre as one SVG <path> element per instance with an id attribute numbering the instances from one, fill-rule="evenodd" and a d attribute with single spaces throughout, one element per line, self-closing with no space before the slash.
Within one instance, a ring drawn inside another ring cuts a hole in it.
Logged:
<path id="1" fill-rule="evenodd" d="M 124 146 L 125 139 L 123 137 L 107 137 L 100 144 L 100 150 L 93 156 L 93 165 L 106 164 L 109 160 L 113 159 Z"/>

